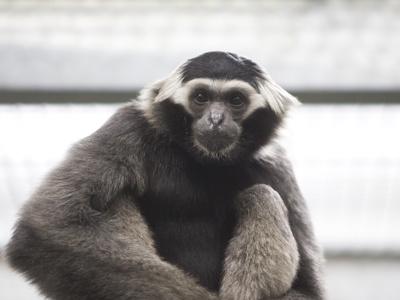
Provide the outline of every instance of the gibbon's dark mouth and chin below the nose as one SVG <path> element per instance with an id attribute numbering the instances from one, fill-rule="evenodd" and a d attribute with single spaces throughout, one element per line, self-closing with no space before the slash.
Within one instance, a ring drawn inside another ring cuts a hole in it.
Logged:
<path id="1" fill-rule="evenodd" d="M 194 137 L 204 150 L 213 153 L 228 150 L 228 148 L 233 146 L 237 140 L 236 133 L 228 133 L 216 128 L 196 132 Z"/>

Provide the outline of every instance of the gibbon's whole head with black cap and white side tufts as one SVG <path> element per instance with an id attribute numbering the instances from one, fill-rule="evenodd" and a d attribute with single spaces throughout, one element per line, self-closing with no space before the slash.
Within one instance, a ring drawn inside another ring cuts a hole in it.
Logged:
<path id="1" fill-rule="evenodd" d="M 226 52 L 188 60 L 139 100 L 149 122 L 196 160 L 226 163 L 266 145 L 298 103 L 260 66 Z"/>

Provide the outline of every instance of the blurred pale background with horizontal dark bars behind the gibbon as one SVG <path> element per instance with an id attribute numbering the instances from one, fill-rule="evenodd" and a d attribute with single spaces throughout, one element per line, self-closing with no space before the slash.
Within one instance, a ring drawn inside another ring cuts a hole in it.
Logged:
<path id="1" fill-rule="evenodd" d="M 206 51 L 247 56 L 304 104 L 282 143 L 329 299 L 400 299 L 400 1 L 0 0 L 0 251 L 77 140 Z M 0 299 L 44 299 L 0 261 Z"/>

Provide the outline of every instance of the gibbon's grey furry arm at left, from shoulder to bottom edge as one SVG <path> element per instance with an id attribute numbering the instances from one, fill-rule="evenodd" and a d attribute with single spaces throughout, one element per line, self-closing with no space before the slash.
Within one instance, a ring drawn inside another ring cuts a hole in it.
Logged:
<path id="1" fill-rule="evenodd" d="M 51 299 L 215 299 L 156 254 L 130 190 L 138 189 L 129 175 L 137 170 L 119 161 L 129 147 L 123 141 L 134 137 L 118 114 L 26 203 L 6 248 L 9 263 Z"/>

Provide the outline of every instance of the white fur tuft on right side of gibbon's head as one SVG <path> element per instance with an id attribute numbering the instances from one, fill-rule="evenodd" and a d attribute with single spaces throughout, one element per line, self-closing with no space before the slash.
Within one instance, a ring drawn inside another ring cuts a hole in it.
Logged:
<path id="1" fill-rule="evenodd" d="M 276 84 L 268 73 L 264 72 L 265 80 L 260 82 L 259 90 L 266 104 L 280 117 L 283 117 L 293 106 L 300 102 Z"/>

